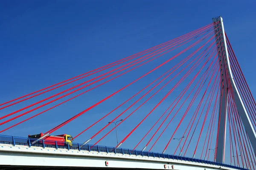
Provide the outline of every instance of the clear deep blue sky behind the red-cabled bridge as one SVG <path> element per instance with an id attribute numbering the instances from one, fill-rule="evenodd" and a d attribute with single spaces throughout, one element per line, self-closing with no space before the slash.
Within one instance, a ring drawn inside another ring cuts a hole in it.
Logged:
<path id="1" fill-rule="evenodd" d="M 250 89 L 256 96 L 255 6 L 253 0 L 1 1 L 0 103 L 156 46 L 205 26 L 212 22 L 212 17 L 220 15 Z M 77 98 L 3 134 L 27 136 L 45 132 L 114 92 L 118 85 Z M 129 92 L 137 92 L 137 89 L 131 88 L 126 94 Z M 111 99 L 99 110 L 81 116 L 56 133 L 76 135 L 113 109 L 111 103 L 119 98 L 122 96 Z M 24 105 L 0 113 L 3 115 Z M 130 124 L 135 125 L 132 120 Z M 127 134 L 128 125 L 120 126 L 120 139 Z M 99 128 L 81 135 L 76 141 L 84 142 Z M 135 137 L 141 132 L 139 130 Z M 165 145 L 166 141 L 160 142 L 154 151 L 163 150 L 161 144 Z M 137 141 L 130 140 L 123 147 L 132 148 L 135 143 Z M 100 144 L 114 146 L 115 133 Z M 176 146 L 177 142 L 173 144 Z"/>

